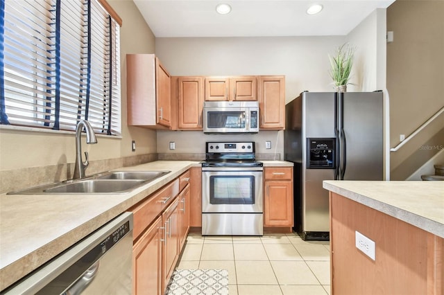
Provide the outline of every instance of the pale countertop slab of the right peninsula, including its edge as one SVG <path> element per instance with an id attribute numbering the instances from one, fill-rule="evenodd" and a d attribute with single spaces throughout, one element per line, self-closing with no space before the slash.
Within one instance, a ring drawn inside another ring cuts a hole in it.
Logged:
<path id="1" fill-rule="evenodd" d="M 444 238 L 444 181 L 323 181 L 323 188 Z"/>

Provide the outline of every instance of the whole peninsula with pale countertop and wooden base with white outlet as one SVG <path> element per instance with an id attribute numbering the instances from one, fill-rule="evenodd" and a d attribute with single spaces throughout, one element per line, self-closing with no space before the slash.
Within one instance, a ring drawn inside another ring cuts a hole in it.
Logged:
<path id="1" fill-rule="evenodd" d="M 443 294 L 443 181 L 323 187 L 330 190 L 332 294 Z"/>

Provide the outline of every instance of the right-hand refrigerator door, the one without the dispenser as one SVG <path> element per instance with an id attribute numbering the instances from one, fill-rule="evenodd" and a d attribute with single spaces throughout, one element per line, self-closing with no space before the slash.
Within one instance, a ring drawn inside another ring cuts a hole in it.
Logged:
<path id="1" fill-rule="evenodd" d="M 382 106 L 382 92 L 343 93 L 344 180 L 383 180 Z"/>

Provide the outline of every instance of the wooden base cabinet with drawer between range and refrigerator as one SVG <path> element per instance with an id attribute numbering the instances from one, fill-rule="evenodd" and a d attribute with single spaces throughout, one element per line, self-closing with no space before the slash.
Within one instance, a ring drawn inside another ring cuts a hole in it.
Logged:
<path id="1" fill-rule="evenodd" d="M 264 168 L 264 226 L 293 226 L 293 168 Z"/>

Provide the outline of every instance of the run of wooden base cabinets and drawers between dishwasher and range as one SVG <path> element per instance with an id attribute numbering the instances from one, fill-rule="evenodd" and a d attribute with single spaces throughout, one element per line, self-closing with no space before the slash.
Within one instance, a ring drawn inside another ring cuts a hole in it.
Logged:
<path id="1" fill-rule="evenodd" d="M 189 171 L 133 211 L 133 294 L 162 295 L 187 240 L 190 221 Z"/>

